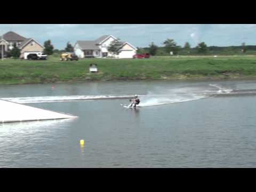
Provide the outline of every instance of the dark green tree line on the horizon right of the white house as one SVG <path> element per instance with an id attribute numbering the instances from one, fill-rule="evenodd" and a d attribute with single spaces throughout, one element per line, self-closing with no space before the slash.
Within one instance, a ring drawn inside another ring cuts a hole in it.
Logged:
<path id="1" fill-rule="evenodd" d="M 137 47 L 137 53 L 149 53 L 150 55 L 206 55 L 206 54 L 234 54 L 245 53 L 247 51 L 254 51 L 256 54 L 256 46 L 245 45 L 241 46 L 207 46 L 205 42 L 198 43 L 196 47 L 191 47 L 189 42 L 186 42 L 183 47 L 179 46 L 174 39 L 167 38 L 163 43 L 163 46 L 157 46 L 154 42 L 151 42 L 148 47 Z"/>

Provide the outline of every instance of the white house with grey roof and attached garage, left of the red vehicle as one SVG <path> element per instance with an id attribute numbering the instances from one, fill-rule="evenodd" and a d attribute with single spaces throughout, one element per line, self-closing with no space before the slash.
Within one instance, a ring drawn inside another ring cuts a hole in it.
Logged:
<path id="1" fill-rule="evenodd" d="M 77 41 L 74 45 L 74 52 L 79 58 L 133 58 L 137 48 L 128 42 L 119 42 L 118 53 L 108 51 L 111 42 L 117 40 L 113 35 L 103 35 L 94 41 Z"/>

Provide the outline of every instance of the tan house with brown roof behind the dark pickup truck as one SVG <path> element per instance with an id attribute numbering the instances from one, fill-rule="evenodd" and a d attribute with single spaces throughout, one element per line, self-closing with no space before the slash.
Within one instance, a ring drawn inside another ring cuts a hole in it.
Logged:
<path id="1" fill-rule="evenodd" d="M 0 45 L 2 46 L 0 46 L 0 49 L 3 47 L 5 53 L 12 50 L 14 44 L 20 49 L 20 58 L 26 57 L 28 53 L 43 52 L 44 50 L 44 46 L 38 43 L 34 38 L 26 38 L 13 31 L 9 31 L 1 36 Z"/>

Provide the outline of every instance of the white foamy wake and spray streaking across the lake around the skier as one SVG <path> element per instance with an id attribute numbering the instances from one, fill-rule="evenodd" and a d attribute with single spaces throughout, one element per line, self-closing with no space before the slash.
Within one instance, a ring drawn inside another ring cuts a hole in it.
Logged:
<path id="1" fill-rule="evenodd" d="M 209 98 L 214 94 L 229 93 L 233 90 L 227 89 L 217 84 L 210 84 L 218 90 L 204 89 L 203 87 L 182 87 L 171 90 L 161 90 L 148 92 L 146 95 L 139 95 L 139 107 L 149 107 L 157 105 L 166 105 L 171 103 L 194 101 L 198 99 Z M 210 87 L 209 87 L 210 88 Z M 17 103 L 45 103 L 45 102 L 70 102 L 82 100 L 103 100 L 103 99 L 130 99 L 134 95 L 68 95 L 53 97 L 20 97 L 20 98 L 2 98 L 7 101 Z M 129 103 L 127 103 L 129 105 Z"/>

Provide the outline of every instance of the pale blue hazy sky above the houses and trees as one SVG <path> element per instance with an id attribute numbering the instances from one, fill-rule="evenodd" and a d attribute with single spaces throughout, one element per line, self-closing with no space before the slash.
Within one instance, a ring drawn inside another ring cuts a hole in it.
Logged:
<path id="1" fill-rule="evenodd" d="M 162 46 L 170 38 L 183 46 L 256 45 L 256 24 L 0 24 L 0 36 L 14 31 L 43 44 L 51 39 L 54 49 L 64 49 L 67 42 L 95 40 L 113 35 L 135 47 L 147 47 L 151 42 Z"/>

